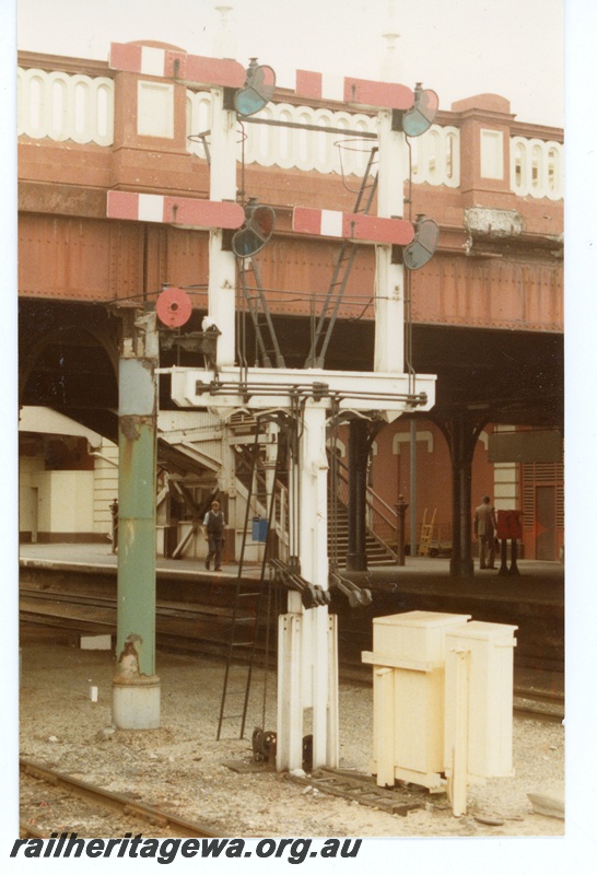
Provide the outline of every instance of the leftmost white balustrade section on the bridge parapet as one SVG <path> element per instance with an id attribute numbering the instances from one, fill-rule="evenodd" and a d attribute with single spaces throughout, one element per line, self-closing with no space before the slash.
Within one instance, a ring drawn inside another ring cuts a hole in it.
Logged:
<path id="1" fill-rule="evenodd" d="M 19 68 L 20 136 L 75 143 L 114 142 L 114 81 Z"/>

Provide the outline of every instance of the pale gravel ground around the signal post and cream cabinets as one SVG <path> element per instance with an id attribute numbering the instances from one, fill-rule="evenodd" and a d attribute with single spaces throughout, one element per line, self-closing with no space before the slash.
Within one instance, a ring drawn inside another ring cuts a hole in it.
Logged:
<path id="1" fill-rule="evenodd" d="M 21 756 L 106 790 L 159 805 L 222 836 L 483 837 L 562 836 L 564 820 L 534 809 L 529 793 L 562 794 L 564 730 L 514 718 L 515 777 L 489 779 L 468 790 L 467 814 L 455 817 L 444 794 L 421 795 L 422 806 L 391 815 L 330 796 L 274 771 L 242 774 L 230 760 L 250 760 L 250 735 L 262 721 L 262 679 L 254 684 L 247 738 L 215 740 L 223 664 L 159 654 L 161 727 L 112 726 L 114 656 L 106 651 L 31 643 L 22 649 Z M 90 688 L 98 688 L 97 701 Z M 276 684 L 268 684 L 267 730 L 276 730 Z M 340 758 L 343 768 L 370 774 L 373 692 L 340 687 Z M 43 807 L 27 792 L 21 815 Z M 114 817 L 117 817 L 116 815 Z M 104 836 L 120 835 L 105 818 Z M 51 824 L 49 824 L 51 826 Z M 54 828 L 69 828 L 57 824 Z M 92 828 L 93 829 L 93 828 Z M 85 835 L 85 824 L 77 831 Z M 90 832 L 91 835 L 97 835 Z"/>

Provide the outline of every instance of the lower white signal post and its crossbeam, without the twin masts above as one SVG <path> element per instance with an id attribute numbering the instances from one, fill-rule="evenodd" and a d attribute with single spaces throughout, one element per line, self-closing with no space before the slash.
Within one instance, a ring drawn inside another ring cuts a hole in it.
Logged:
<path id="1" fill-rule="evenodd" d="M 401 330 L 401 326 L 398 326 Z M 374 372 L 308 371 L 281 368 L 223 366 L 215 374 L 188 368 L 173 368 L 172 398 L 182 407 L 254 410 L 291 409 L 291 395 L 304 393 L 300 432 L 300 469 L 291 472 L 297 481 L 298 549 L 301 575 L 328 588 L 327 545 L 327 455 L 326 425 L 331 396 L 341 411 L 379 411 L 388 420 L 412 409 L 407 398 L 405 374 Z M 418 376 L 418 389 L 426 400 L 417 409 L 429 410 L 435 397 L 435 377 Z M 327 386 L 319 400 L 313 387 Z M 422 399 L 420 399 L 422 400 Z M 296 534 L 296 533 L 295 533 Z M 288 614 L 280 617 L 278 638 L 277 768 L 292 771 L 303 763 L 305 714 L 312 710 L 313 768 L 338 766 L 338 645 L 336 618 L 326 605 L 305 609 L 298 593 L 289 592 Z"/>

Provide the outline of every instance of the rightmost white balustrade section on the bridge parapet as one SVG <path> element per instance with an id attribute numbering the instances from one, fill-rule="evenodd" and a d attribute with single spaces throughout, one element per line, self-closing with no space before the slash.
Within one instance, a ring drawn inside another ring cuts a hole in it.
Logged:
<path id="1" fill-rule="evenodd" d="M 512 137 L 511 188 L 520 197 L 560 200 L 564 196 L 564 147 L 554 140 Z"/>

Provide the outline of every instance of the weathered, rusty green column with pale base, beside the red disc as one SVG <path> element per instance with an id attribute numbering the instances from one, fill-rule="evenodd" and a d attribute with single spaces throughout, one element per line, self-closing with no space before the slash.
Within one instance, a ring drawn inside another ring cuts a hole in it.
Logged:
<path id="1" fill-rule="evenodd" d="M 159 340 L 155 313 L 125 323 L 119 363 L 117 673 L 113 721 L 160 725 L 155 675 L 155 471 Z"/>

